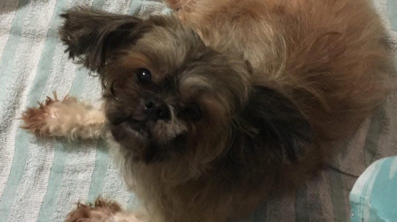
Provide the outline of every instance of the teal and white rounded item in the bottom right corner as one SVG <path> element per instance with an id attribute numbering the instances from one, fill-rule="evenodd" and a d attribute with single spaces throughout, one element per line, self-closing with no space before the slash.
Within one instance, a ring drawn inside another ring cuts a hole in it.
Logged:
<path id="1" fill-rule="evenodd" d="M 372 163 L 350 193 L 351 222 L 397 222 L 397 156 Z"/>

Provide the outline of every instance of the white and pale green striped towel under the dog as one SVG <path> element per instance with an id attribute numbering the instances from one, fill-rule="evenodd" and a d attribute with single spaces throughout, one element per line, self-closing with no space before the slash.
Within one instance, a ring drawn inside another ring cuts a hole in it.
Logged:
<path id="1" fill-rule="evenodd" d="M 397 0 L 375 4 L 396 41 Z M 57 37 L 58 15 L 75 5 L 135 15 L 166 10 L 159 0 L 0 0 L 0 222 L 61 222 L 73 203 L 98 195 L 128 208 L 137 204 L 104 142 L 38 141 L 19 129 L 24 108 L 53 90 L 80 99 L 100 97 L 98 79 L 67 59 Z M 346 148 L 333 163 L 336 170 L 243 221 L 348 221 L 348 196 L 357 176 L 374 160 L 397 153 L 396 111 L 395 93 L 341 145 Z"/>

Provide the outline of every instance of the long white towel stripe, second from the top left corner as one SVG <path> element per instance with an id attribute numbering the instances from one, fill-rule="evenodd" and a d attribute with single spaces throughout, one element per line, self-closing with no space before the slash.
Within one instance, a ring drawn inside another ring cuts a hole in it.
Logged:
<path id="1" fill-rule="evenodd" d="M 35 3 L 36 1 L 33 1 Z M 12 69 L 13 73 L 9 74 L 12 77 L 10 78 L 10 82 L 7 85 L 12 85 L 13 89 L 21 88 L 23 89 L 21 95 L 18 98 L 12 98 L 12 95 L 15 95 L 14 90 L 9 90 L 4 95 L 4 98 L 8 98 L 8 104 L 5 103 L 4 105 L 7 106 L 8 109 L 0 110 L 0 114 L 6 112 L 12 112 L 11 109 L 15 109 L 15 116 L 8 116 L 5 115 L 6 118 L 19 118 L 22 110 L 24 110 L 26 104 L 24 103 L 27 100 L 27 96 L 29 90 L 32 86 L 35 74 L 37 72 L 37 66 L 39 63 L 41 52 L 44 48 L 45 40 L 43 37 L 46 36 L 46 30 L 49 28 L 49 22 L 52 14 L 51 13 L 41 13 L 42 11 L 53 11 L 55 6 L 55 2 L 46 3 L 45 5 L 26 5 L 25 7 L 29 7 L 27 10 L 27 15 L 25 17 L 25 25 L 24 29 L 22 30 L 23 33 L 30 33 L 25 38 L 22 38 L 22 42 L 18 45 L 16 52 L 15 52 L 15 59 L 13 64 L 9 64 L 13 66 Z M 40 13 L 39 13 L 40 12 Z M 32 21 L 36 21 L 33 23 Z M 37 22 L 42 21 L 42 22 Z M 35 30 L 39 30 L 38 32 Z M 44 31 L 43 31 L 44 30 Z M 27 38 L 26 38 L 27 37 Z M 4 86 L 3 86 L 4 87 Z M 12 104 L 17 104 L 16 100 L 20 101 L 20 106 L 13 107 Z M 1 115 L 0 115 L 1 116 Z M 0 120 L 0 122 L 5 120 Z M 6 143 L 0 144 L 0 196 L 5 188 L 7 178 L 10 173 L 11 165 L 12 165 L 12 158 L 14 155 L 14 148 L 15 148 L 15 137 L 16 132 L 19 129 L 21 122 L 19 120 L 12 121 L 12 126 L 10 131 L 4 134 L 4 140 Z"/>

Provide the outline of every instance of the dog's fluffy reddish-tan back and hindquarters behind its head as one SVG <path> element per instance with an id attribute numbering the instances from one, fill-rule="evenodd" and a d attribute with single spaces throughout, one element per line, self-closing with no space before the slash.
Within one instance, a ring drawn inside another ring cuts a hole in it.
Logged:
<path id="1" fill-rule="evenodd" d="M 363 0 L 172 3 L 207 45 L 241 50 L 258 81 L 291 95 L 321 137 L 351 133 L 395 86 L 385 30 Z"/>

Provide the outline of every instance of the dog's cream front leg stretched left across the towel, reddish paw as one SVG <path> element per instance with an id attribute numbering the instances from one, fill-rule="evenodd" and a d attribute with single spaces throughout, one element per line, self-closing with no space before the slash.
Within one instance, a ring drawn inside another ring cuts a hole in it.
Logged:
<path id="1" fill-rule="evenodd" d="M 22 128 L 42 137 L 64 137 L 68 140 L 99 139 L 104 131 L 105 116 L 101 109 L 66 96 L 58 100 L 47 97 L 39 107 L 22 114 Z"/>

